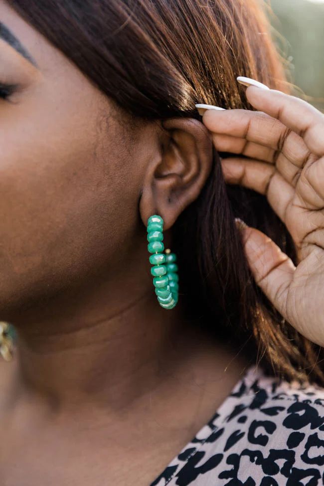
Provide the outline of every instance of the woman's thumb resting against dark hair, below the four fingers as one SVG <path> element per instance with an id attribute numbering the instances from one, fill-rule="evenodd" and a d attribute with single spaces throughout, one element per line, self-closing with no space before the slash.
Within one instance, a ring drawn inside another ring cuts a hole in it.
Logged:
<path id="1" fill-rule="evenodd" d="M 235 218 L 253 277 L 280 314 L 287 319 L 286 303 L 296 267 L 269 236 Z"/>

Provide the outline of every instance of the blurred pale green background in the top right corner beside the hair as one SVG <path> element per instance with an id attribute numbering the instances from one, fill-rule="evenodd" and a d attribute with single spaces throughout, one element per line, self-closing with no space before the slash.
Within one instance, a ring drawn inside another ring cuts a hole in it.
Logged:
<path id="1" fill-rule="evenodd" d="M 281 52 L 297 86 L 295 96 L 324 111 L 324 0 L 267 0 Z M 281 37 L 282 36 L 282 37 Z"/>

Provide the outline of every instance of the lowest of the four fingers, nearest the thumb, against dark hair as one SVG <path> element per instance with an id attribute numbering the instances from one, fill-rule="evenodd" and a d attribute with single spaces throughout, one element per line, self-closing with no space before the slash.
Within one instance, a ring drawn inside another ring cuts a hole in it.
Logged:
<path id="1" fill-rule="evenodd" d="M 228 183 L 240 184 L 266 195 L 272 209 L 286 223 L 287 208 L 295 195 L 295 189 L 274 165 L 231 157 L 222 159 L 221 166 Z"/>

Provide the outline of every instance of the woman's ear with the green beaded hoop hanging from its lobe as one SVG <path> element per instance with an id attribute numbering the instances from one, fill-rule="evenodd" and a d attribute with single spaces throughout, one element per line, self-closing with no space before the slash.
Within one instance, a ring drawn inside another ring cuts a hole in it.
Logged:
<path id="1" fill-rule="evenodd" d="M 212 137 L 200 121 L 177 117 L 162 122 L 162 139 L 161 154 L 148 165 L 139 207 L 146 226 L 152 214 L 159 214 L 167 230 L 206 182 Z"/>

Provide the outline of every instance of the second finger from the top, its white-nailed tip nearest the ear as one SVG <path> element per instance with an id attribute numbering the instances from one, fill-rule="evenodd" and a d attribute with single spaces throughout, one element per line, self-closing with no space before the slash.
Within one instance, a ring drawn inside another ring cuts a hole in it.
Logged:
<path id="1" fill-rule="evenodd" d="M 275 163 L 282 153 L 289 162 L 303 167 L 311 155 L 302 137 L 267 113 L 241 109 L 206 110 L 202 121 L 213 136 L 228 135 L 258 144 L 260 152 L 264 151 L 262 147 L 273 149 L 273 158 L 267 162 Z M 244 142 L 241 144 L 243 146 Z M 262 156 L 255 158 L 263 160 Z"/>

